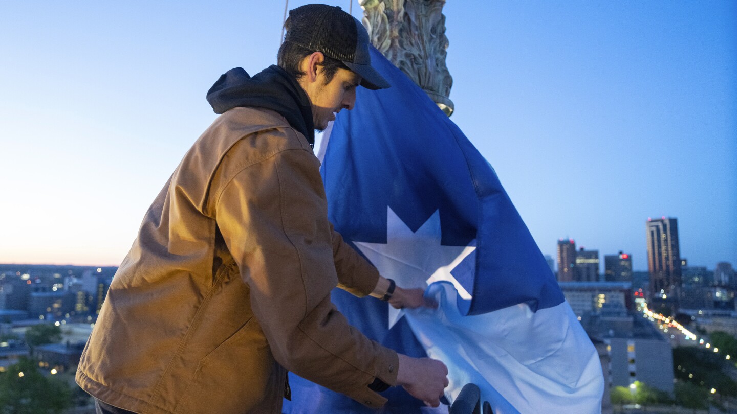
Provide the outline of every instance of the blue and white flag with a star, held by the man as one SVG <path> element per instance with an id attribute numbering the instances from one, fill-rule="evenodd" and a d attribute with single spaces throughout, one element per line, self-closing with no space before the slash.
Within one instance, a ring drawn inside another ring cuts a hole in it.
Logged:
<path id="1" fill-rule="evenodd" d="M 449 369 L 446 397 L 481 388 L 495 413 L 598 413 L 598 354 L 494 169 L 422 89 L 371 48 L 392 87 L 357 91 L 321 168 L 331 222 L 380 273 L 438 309 L 397 310 L 335 290 L 371 339 Z M 323 144 L 325 147 L 325 143 Z M 284 413 L 375 413 L 290 374 Z M 399 387 L 384 413 L 447 413 Z"/>

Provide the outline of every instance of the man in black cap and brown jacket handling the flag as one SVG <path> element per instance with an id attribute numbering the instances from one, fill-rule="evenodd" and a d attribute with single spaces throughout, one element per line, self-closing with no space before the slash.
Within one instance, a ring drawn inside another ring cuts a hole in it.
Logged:
<path id="1" fill-rule="evenodd" d="M 368 34 L 339 7 L 290 12 L 279 66 L 233 69 L 210 89 L 222 113 L 147 211 L 77 371 L 99 413 L 281 413 L 287 370 L 381 407 L 402 385 L 438 406 L 447 368 L 398 355 L 348 325 L 336 285 L 396 307 L 395 287 L 332 229 L 314 130 L 386 88 Z"/>

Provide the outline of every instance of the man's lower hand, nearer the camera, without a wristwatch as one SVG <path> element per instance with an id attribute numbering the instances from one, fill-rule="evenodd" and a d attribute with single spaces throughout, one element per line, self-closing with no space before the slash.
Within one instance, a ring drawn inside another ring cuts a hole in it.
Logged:
<path id="1" fill-rule="evenodd" d="M 438 407 L 448 386 L 448 368 L 437 359 L 412 358 L 398 354 L 397 385 L 430 407 Z"/>

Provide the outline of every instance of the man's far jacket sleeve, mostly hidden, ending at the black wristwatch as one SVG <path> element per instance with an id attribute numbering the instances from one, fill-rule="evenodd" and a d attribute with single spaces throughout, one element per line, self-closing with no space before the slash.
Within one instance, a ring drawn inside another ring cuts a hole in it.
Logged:
<path id="1" fill-rule="evenodd" d="M 343 241 L 332 224 L 332 255 L 335 270 L 338 272 L 338 287 L 362 298 L 370 295 L 379 281 L 379 271 L 376 267 L 363 259 L 356 250 Z"/>

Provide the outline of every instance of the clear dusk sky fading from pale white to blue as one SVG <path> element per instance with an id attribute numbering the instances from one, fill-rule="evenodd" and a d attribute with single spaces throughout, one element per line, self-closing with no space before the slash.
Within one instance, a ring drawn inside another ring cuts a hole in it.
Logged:
<path id="1" fill-rule="evenodd" d="M 0 263 L 119 264 L 214 120 L 206 91 L 276 63 L 283 13 L 0 1 Z M 646 270 L 646 220 L 666 216 L 690 264 L 737 266 L 737 1 L 449 0 L 444 15 L 451 119 L 543 253 L 573 238 Z"/>

